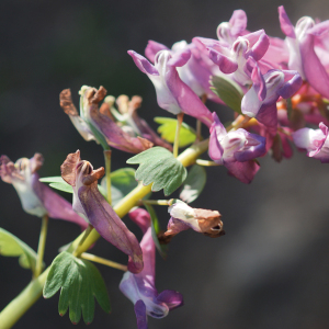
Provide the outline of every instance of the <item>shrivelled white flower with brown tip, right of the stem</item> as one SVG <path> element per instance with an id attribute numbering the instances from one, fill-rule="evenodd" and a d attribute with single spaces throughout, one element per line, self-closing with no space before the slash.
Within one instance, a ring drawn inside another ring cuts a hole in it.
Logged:
<path id="1" fill-rule="evenodd" d="M 217 211 L 192 208 L 186 203 L 178 200 L 168 208 L 171 218 L 167 231 L 160 239 L 166 243 L 182 230 L 192 228 L 211 238 L 218 238 L 225 235 L 223 229 L 222 215 Z"/>

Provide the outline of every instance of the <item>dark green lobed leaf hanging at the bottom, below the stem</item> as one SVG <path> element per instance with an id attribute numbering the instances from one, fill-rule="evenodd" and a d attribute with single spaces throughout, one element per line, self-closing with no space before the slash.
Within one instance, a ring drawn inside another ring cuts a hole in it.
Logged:
<path id="1" fill-rule="evenodd" d="M 89 261 L 66 251 L 59 253 L 52 263 L 44 297 L 53 297 L 59 290 L 58 313 L 64 316 L 69 308 L 72 324 L 80 321 L 81 310 L 86 324 L 93 320 L 94 297 L 104 311 L 111 311 L 106 286 L 99 270 Z"/>

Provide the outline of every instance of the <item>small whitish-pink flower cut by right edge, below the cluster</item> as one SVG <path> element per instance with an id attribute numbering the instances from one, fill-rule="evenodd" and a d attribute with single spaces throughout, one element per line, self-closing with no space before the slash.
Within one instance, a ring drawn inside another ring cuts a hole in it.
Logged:
<path id="1" fill-rule="evenodd" d="M 305 149 L 307 156 L 329 163 L 328 127 L 321 122 L 319 129 L 302 128 L 293 133 L 293 139 L 298 148 Z"/>

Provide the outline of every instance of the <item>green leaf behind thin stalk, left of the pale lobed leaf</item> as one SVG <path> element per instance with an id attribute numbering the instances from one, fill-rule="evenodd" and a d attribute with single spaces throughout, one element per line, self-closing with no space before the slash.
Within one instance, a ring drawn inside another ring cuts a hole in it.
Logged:
<path id="1" fill-rule="evenodd" d="M 122 198 L 124 198 L 129 192 L 132 192 L 138 183 L 135 179 L 136 170 L 133 168 L 122 168 L 111 172 L 111 196 L 112 196 L 112 205 L 116 205 Z M 99 186 L 100 192 L 101 189 L 106 190 L 106 178 L 102 179 L 101 186 Z"/>

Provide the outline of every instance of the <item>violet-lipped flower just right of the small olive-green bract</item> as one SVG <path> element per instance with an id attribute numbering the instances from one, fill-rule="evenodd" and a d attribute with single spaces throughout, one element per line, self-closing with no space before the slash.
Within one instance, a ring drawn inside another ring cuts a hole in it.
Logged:
<path id="1" fill-rule="evenodd" d="M 250 61 L 252 63 L 252 61 Z M 269 70 L 261 75 L 254 66 L 251 75 L 253 84 L 241 102 L 243 114 L 256 117 L 260 123 L 273 129 L 277 126 L 276 101 L 280 97 L 291 98 L 302 87 L 302 78 L 297 71 Z"/>

